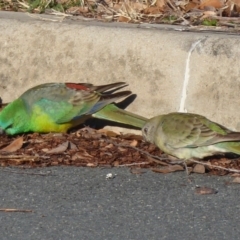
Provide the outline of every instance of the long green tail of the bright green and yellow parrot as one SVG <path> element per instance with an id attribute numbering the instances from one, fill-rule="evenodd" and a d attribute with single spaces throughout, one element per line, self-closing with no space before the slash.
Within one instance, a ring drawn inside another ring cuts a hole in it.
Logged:
<path id="1" fill-rule="evenodd" d="M 137 128 L 142 128 L 148 120 L 147 118 L 140 115 L 120 109 L 114 104 L 107 105 L 100 111 L 94 113 L 92 116 L 95 118 L 118 122 Z"/>

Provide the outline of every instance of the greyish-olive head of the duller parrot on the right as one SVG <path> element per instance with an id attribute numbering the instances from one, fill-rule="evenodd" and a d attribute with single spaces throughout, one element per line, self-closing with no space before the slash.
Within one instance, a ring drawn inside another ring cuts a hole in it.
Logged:
<path id="1" fill-rule="evenodd" d="M 154 143 L 154 137 L 158 126 L 158 119 L 151 118 L 142 127 L 142 136 L 145 141 Z"/>

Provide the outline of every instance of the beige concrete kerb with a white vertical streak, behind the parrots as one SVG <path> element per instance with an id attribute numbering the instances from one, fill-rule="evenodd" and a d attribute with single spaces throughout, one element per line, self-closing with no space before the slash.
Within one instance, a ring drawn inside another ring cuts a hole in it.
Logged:
<path id="1" fill-rule="evenodd" d="M 40 17 L 0 12 L 4 102 L 43 82 L 126 81 L 130 111 L 194 112 L 240 130 L 239 36 Z"/>

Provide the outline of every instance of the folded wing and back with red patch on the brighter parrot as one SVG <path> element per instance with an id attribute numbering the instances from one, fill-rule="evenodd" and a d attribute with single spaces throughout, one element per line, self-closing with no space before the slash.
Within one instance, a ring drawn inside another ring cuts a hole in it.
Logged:
<path id="1" fill-rule="evenodd" d="M 120 82 L 98 88 L 106 91 L 122 85 Z M 31 112 L 33 107 L 39 106 L 43 113 L 61 124 L 81 118 L 85 114 L 91 115 L 120 97 L 131 94 L 130 91 L 101 94 L 92 90 L 95 88 L 97 87 L 92 84 L 47 83 L 29 89 L 20 98 L 24 101 L 27 111 Z"/>

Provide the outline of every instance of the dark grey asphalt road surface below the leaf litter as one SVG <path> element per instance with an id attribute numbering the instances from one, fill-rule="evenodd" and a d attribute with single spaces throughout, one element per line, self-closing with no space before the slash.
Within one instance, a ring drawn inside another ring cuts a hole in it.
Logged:
<path id="1" fill-rule="evenodd" d="M 77 167 L 0 174 L 0 208 L 33 211 L 0 212 L 2 240 L 240 239 L 240 184 L 230 177 Z M 197 195 L 196 185 L 218 193 Z"/>

